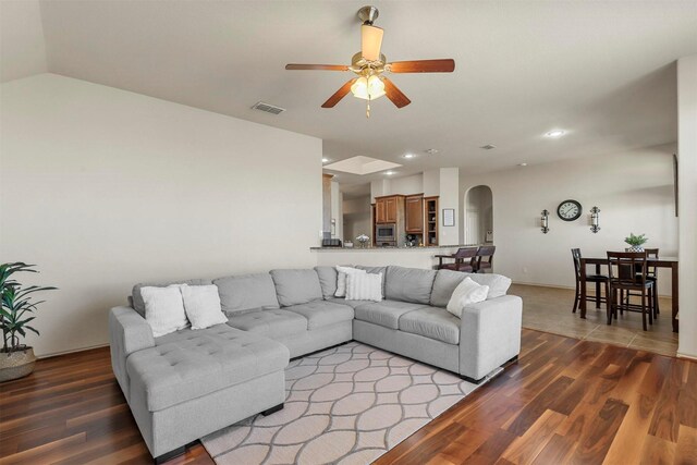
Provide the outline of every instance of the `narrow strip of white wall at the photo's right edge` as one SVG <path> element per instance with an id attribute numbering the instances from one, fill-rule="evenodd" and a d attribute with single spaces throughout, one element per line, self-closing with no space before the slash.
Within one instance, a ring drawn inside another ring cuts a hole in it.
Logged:
<path id="1" fill-rule="evenodd" d="M 680 355 L 697 358 L 697 54 L 677 60 Z"/>

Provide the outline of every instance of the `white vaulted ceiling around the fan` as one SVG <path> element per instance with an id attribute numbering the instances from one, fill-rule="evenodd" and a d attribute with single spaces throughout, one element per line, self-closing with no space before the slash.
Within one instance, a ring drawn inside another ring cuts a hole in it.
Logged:
<path id="1" fill-rule="evenodd" d="M 4 13 L 17 10 L 5 3 Z M 389 61 L 453 58 L 456 69 L 391 76 L 412 105 L 398 110 L 381 98 L 369 120 L 352 97 L 320 108 L 350 74 L 284 70 L 348 64 L 364 3 L 42 1 L 19 24 L 3 14 L 2 76 L 48 70 L 309 134 L 333 161 L 370 156 L 403 164 L 399 175 L 484 172 L 676 138 L 674 61 L 697 53 L 695 1 L 374 1 Z M 41 40 L 29 30 L 39 14 Z M 33 69 L 27 50 L 45 61 Z M 252 110 L 259 100 L 288 111 Z M 542 137 L 557 127 L 566 136 Z M 486 144 L 497 148 L 479 148 Z M 407 152 L 417 157 L 403 159 Z"/>

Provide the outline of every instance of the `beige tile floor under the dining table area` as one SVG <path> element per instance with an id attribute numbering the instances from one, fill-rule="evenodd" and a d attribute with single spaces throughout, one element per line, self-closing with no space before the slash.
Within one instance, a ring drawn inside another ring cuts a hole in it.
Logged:
<path id="1" fill-rule="evenodd" d="M 644 331 L 641 315 L 637 313 L 625 313 L 608 326 L 604 304 L 597 309 L 595 304 L 588 303 L 586 319 L 580 319 L 578 310 L 575 314 L 571 311 L 574 305 L 573 290 L 513 284 L 509 293 L 523 297 L 524 328 L 673 357 L 677 351 L 677 333 L 671 327 L 670 298 L 660 298 L 661 314 L 648 331 Z"/>

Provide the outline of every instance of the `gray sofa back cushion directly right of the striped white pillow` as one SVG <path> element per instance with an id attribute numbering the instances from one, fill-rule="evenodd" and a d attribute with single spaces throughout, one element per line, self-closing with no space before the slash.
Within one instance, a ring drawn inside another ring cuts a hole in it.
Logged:
<path id="1" fill-rule="evenodd" d="M 435 279 L 435 270 L 390 266 L 386 274 L 384 298 L 428 305 Z"/>

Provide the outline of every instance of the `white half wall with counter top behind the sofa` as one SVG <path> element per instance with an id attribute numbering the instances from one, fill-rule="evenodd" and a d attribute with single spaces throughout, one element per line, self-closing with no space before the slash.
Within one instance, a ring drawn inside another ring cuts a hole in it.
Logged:
<path id="1" fill-rule="evenodd" d="M 476 247 L 479 244 L 440 245 L 433 247 L 311 247 L 317 253 L 318 266 L 364 265 L 379 267 L 398 265 L 401 267 L 433 269 L 438 266 L 436 255 L 451 255 L 461 247 Z M 487 244 L 489 245 L 489 244 Z"/>

